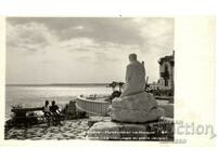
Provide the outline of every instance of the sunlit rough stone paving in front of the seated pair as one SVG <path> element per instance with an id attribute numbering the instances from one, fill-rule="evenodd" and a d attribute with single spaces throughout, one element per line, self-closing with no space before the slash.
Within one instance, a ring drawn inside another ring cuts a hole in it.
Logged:
<path id="1" fill-rule="evenodd" d="M 10 130 L 5 130 L 4 139 L 85 139 L 88 130 L 88 119 L 67 120 L 62 121 L 62 125 L 59 126 L 39 124 L 31 127 L 12 127 Z"/>

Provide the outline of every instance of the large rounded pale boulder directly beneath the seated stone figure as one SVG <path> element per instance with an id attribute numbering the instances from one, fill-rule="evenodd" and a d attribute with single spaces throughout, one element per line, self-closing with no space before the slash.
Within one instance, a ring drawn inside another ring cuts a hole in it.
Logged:
<path id="1" fill-rule="evenodd" d="M 164 110 L 158 108 L 152 94 L 139 93 L 113 99 L 108 114 L 115 121 L 143 123 L 159 119 Z"/>

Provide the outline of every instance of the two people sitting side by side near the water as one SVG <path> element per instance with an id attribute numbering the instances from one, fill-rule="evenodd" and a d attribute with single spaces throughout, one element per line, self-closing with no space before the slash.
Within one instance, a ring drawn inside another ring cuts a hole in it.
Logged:
<path id="1" fill-rule="evenodd" d="M 61 111 L 59 109 L 59 106 L 55 105 L 55 100 L 51 103 L 51 106 L 49 106 L 49 100 L 46 100 L 46 104 L 43 106 L 43 113 L 49 125 L 51 123 L 51 120 L 54 124 L 61 124 Z"/>

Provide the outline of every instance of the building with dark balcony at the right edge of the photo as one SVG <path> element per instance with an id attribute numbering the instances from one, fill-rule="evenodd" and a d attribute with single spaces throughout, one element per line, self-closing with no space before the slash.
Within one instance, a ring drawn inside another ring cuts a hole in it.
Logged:
<path id="1" fill-rule="evenodd" d="M 168 90 L 174 94 L 174 65 L 175 51 L 173 55 L 165 56 L 158 59 L 159 64 L 159 80 L 158 89 Z"/>

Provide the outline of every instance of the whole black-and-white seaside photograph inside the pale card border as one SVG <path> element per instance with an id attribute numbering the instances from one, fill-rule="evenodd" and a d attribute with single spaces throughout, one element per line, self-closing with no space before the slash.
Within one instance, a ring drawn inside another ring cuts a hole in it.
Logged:
<path id="1" fill-rule="evenodd" d="M 4 139 L 174 141 L 174 17 L 7 17 Z"/>

